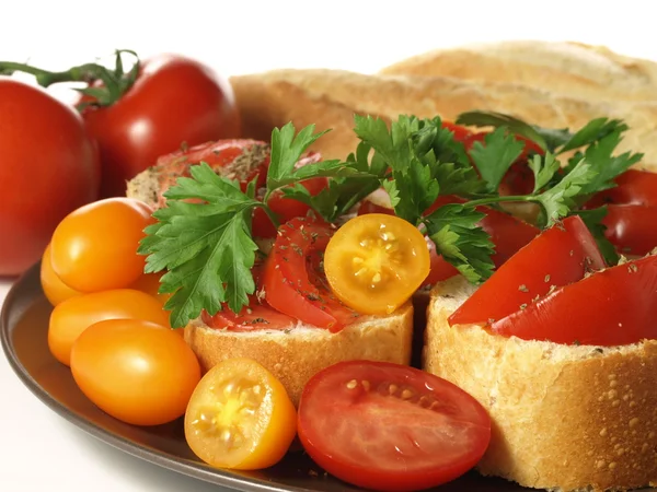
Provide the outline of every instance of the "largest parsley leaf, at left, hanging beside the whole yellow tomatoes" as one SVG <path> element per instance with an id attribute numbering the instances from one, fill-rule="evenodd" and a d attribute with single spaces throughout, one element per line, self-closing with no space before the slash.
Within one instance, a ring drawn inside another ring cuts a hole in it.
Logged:
<path id="1" fill-rule="evenodd" d="M 239 185 L 218 176 L 207 164 L 189 168 L 165 192 L 168 206 L 153 212 L 138 253 L 147 254 L 146 271 L 166 270 L 160 292 L 172 293 L 165 308 L 171 325 L 183 327 L 200 315 L 215 314 L 227 302 L 239 313 L 255 291 L 251 267 L 257 245 L 251 238 L 251 212 L 262 206 Z M 198 198 L 206 203 L 178 201 Z"/>

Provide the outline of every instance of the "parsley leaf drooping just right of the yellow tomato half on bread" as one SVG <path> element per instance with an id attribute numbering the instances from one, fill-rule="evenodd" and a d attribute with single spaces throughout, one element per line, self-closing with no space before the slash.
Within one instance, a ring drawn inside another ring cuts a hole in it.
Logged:
<path id="1" fill-rule="evenodd" d="M 424 220 L 436 251 L 473 283 L 491 277 L 495 267 L 491 236 L 476 225 L 484 216 L 472 207 L 452 203 L 436 209 Z"/>

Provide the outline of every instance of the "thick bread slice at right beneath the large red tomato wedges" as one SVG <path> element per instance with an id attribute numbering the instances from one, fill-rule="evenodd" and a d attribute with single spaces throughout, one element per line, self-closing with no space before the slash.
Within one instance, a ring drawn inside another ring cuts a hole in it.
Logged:
<path id="1" fill-rule="evenodd" d="M 488 410 L 479 470 L 563 491 L 657 482 L 657 341 L 570 347 L 450 327 L 472 292 L 462 277 L 434 288 L 423 359 Z"/>

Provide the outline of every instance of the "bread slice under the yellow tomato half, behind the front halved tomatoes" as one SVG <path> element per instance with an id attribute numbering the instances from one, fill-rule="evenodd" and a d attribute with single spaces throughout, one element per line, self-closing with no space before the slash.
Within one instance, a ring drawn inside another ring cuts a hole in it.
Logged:
<path id="1" fill-rule="evenodd" d="M 254 359 L 283 383 L 295 406 L 306 383 L 337 362 L 366 359 L 407 365 L 412 337 L 411 303 L 389 316 L 368 317 L 337 333 L 307 327 L 234 332 L 208 328 L 199 320 L 185 327 L 185 341 L 198 356 L 204 373 L 227 359 Z"/>

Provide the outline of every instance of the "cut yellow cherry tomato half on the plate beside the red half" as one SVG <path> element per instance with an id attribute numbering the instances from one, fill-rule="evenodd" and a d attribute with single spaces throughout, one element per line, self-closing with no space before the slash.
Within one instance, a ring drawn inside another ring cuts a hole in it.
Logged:
<path id="1" fill-rule="evenodd" d="M 285 387 L 251 359 L 229 359 L 208 371 L 185 412 L 187 444 L 217 468 L 270 467 L 296 434 L 297 411 Z"/>

